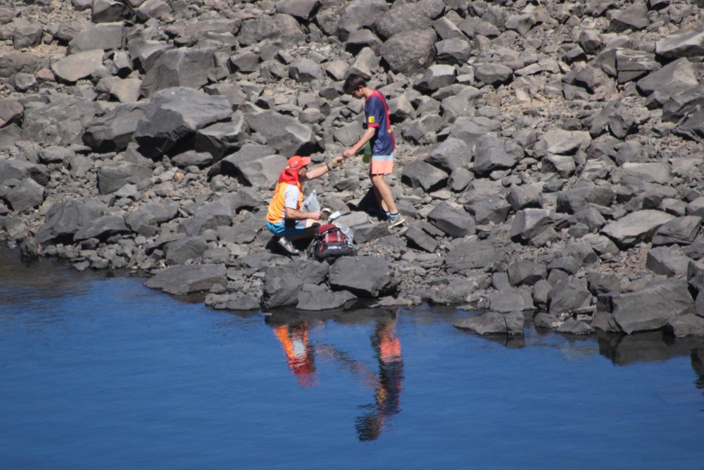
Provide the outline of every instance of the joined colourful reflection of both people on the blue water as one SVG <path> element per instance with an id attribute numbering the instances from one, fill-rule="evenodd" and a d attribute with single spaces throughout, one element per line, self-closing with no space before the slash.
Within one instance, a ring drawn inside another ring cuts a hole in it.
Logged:
<path id="1" fill-rule="evenodd" d="M 294 321 L 273 326 L 274 334 L 286 354 L 291 373 L 296 376 L 298 385 L 310 387 L 318 383 L 315 370 L 315 353 L 333 359 L 343 369 L 361 377 L 362 383 L 374 389 L 374 402 L 360 408 L 368 409 L 355 419 L 359 440 L 375 440 L 384 430 L 384 423 L 390 416 L 401 412 L 401 381 L 403 380 L 403 357 L 401 342 L 396 335 L 396 320 L 377 321 L 370 337 L 372 350 L 379 370 L 373 373 L 364 361 L 353 359 L 347 352 L 333 345 L 310 344 L 309 322 Z"/>

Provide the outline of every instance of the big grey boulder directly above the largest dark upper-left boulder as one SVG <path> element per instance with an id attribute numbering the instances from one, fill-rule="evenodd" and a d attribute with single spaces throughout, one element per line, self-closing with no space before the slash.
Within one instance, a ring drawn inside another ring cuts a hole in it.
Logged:
<path id="1" fill-rule="evenodd" d="M 164 51 L 142 80 L 140 92 L 151 98 L 163 89 L 199 89 L 215 75 L 215 49 L 171 49 Z"/>

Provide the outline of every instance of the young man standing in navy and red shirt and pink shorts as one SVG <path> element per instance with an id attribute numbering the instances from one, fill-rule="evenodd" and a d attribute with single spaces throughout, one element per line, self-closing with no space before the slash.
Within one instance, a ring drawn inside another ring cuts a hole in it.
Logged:
<path id="1" fill-rule="evenodd" d="M 396 227 L 406 222 L 406 219 L 398 214 L 394 195 L 391 194 L 389 185 L 384 181 L 384 175 L 394 171 L 394 149 L 396 141 L 394 132 L 391 131 L 389 121 L 389 106 L 386 99 L 376 89 L 367 87 L 367 82 L 361 75 L 355 73 L 348 76 L 342 87 L 346 94 L 351 94 L 355 98 L 364 98 L 365 130 L 362 138 L 349 149 L 345 150 L 342 156 L 348 158 L 364 148 L 367 142 L 372 147 L 372 160 L 369 164 L 369 178 L 372 180 L 372 188 L 377 197 L 377 202 L 389 220 L 389 227 Z"/>

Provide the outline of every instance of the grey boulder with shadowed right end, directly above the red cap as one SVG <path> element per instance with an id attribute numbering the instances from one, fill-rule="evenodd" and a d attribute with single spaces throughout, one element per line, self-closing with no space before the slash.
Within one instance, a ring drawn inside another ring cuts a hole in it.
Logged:
<path id="1" fill-rule="evenodd" d="M 296 118 L 283 116 L 275 111 L 248 114 L 247 124 L 252 132 L 265 137 L 268 147 L 287 156 L 310 155 L 318 150 L 313 130 Z"/>

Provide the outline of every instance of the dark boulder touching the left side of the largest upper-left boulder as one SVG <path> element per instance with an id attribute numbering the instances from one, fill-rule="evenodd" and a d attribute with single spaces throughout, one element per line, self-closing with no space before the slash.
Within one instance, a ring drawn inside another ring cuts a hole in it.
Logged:
<path id="1" fill-rule="evenodd" d="M 94 151 L 122 151 L 132 142 L 146 103 L 126 103 L 93 121 L 83 133 L 83 143 Z"/>

